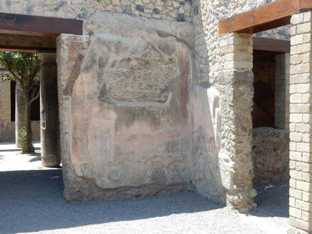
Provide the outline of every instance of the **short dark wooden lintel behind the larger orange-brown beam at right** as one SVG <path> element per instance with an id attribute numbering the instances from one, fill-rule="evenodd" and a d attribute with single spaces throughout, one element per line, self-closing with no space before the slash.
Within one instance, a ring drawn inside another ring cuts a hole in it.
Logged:
<path id="1" fill-rule="evenodd" d="M 254 37 L 253 49 L 271 53 L 290 53 L 290 41 Z"/>

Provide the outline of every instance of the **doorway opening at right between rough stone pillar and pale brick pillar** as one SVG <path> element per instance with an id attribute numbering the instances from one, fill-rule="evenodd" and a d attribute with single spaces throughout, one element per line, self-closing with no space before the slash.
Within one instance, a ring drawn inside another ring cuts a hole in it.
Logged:
<path id="1" fill-rule="evenodd" d="M 272 216 L 277 219 L 289 217 L 289 68 L 290 51 L 253 51 L 255 202 L 257 212 L 274 206 Z"/>

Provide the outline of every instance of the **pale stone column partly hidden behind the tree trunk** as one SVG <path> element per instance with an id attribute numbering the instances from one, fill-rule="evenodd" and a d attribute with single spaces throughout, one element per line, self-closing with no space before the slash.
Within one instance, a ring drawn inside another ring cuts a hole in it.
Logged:
<path id="1" fill-rule="evenodd" d="M 15 88 L 15 144 L 18 147 L 19 129 L 25 126 L 25 96 L 19 82 Z"/>

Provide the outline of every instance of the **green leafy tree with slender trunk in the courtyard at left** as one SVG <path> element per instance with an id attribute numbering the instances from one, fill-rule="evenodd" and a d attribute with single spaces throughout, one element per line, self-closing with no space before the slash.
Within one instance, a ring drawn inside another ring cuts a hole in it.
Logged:
<path id="1" fill-rule="evenodd" d="M 9 71 L 3 78 L 15 80 L 22 87 L 25 97 L 25 142 L 22 152 L 32 153 L 31 109 L 32 102 L 40 95 L 41 58 L 35 53 L 0 51 L 0 65 Z"/>

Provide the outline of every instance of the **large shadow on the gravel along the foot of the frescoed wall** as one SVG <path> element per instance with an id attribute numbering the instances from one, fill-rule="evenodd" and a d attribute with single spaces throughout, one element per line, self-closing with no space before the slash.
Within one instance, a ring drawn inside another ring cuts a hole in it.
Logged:
<path id="1" fill-rule="evenodd" d="M 221 208 L 192 192 L 66 202 L 60 169 L 0 172 L 1 233 L 36 232 Z"/>

